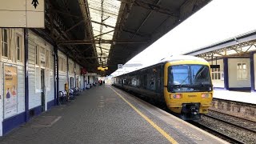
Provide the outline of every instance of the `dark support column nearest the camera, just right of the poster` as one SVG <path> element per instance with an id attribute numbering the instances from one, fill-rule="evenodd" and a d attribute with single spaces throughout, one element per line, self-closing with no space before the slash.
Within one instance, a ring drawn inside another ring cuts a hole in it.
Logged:
<path id="1" fill-rule="evenodd" d="M 29 111 L 29 30 L 24 29 L 24 63 L 25 63 L 25 112 L 26 119 L 25 122 L 28 122 L 30 119 Z"/>

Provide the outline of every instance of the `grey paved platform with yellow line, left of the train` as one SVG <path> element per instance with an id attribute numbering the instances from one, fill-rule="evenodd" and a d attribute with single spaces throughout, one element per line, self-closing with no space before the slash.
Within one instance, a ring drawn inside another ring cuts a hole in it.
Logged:
<path id="1" fill-rule="evenodd" d="M 113 86 L 93 86 L 0 143 L 226 143 Z"/>

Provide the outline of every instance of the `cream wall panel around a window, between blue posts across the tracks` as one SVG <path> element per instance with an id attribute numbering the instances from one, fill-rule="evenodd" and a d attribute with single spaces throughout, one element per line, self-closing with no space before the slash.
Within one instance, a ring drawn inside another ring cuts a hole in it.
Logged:
<path id="1" fill-rule="evenodd" d="M 247 79 L 238 80 L 237 78 L 237 65 L 238 62 L 247 64 Z M 228 58 L 229 70 L 229 86 L 230 87 L 250 87 L 250 58 Z"/>

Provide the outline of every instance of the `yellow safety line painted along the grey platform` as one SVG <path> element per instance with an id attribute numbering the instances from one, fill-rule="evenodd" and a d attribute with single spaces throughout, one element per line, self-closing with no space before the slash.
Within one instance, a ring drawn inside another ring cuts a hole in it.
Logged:
<path id="1" fill-rule="evenodd" d="M 112 87 L 110 87 L 110 89 L 112 89 L 116 94 L 118 94 L 118 92 L 116 90 L 114 90 Z M 158 130 L 158 132 L 160 134 L 162 134 L 164 137 L 166 137 L 166 139 L 169 142 L 178 143 L 174 140 L 174 138 L 170 137 L 170 135 L 167 134 L 165 130 L 162 130 L 157 124 L 155 124 L 153 121 L 151 121 L 150 118 L 147 118 L 146 115 L 142 114 L 142 112 L 140 110 L 138 110 L 134 105 L 132 105 L 130 102 L 128 102 L 126 100 L 126 98 L 123 98 L 121 94 L 118 94 L 118 96 L 120 98 L 122 98 L 122 100 L 125 101 L 131 108 L 133 108 L 140 116 L 142 116 L 142 118 L 144 118 L 146 120 L 146 122 L 149 122 L 150 125 L 154 127 L 154 129 Z"/>

